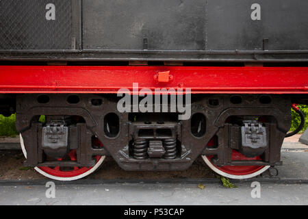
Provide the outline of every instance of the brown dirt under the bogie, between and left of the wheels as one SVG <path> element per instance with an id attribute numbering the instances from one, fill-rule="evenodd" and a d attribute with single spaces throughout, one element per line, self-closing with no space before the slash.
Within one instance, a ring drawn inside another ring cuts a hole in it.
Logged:
<path id="1" fill-rule="evenodd" d="M 0 180 L 34 180 L 47 179 L 40 175 L 34 168 L 25 168 L 25 157 L 20 150 L 0 151 Z M 216 178 L 211 171 L 198 158 L 184 171 L 126 171 L 120 168 L 111 158 L 107 157 L 97 172 L 86 179 L 201 179 Z"/>

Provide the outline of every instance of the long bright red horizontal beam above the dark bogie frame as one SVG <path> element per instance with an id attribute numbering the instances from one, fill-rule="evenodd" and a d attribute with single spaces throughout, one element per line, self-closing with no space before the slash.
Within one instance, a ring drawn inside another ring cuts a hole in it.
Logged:
<path id="1" fill-rule="evenodd" d="M 169 80 L 159 82 L 159 73 Z M 116 93 L 120 88 L 192 93 L 307 94 L 307 67 L 0 66 L 0 93 Z"/>

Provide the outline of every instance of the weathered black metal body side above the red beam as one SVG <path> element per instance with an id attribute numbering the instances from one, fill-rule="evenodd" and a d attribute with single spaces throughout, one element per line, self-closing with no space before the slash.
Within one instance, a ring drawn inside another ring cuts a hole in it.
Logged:
<path id="1" fill-rule="evenodd" d="M 53 0 L 55 21 L 47 3 L 0 2 L 0 60 L 308 60 L 305 0 Z"/>

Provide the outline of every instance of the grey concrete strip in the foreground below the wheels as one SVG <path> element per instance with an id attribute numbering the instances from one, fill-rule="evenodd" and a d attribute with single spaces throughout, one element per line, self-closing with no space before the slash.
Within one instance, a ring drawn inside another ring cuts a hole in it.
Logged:
<path id="1" fill-rule="evenodd" d="M 253 198 L 251 183 L 238 188 L 208 184 L 55 185 L 47 198 L 44 185 L 0 186 L 0 205 L 308 205 L 307 184 L 261 183 Z"/>

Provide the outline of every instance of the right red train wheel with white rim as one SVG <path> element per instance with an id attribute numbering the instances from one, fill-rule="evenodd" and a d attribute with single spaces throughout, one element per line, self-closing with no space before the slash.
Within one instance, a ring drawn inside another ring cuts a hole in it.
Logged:
<path id="1" fill-rule="evenodd" d="M 260 175 L 270 166 L 216 166 L 211 162 L 213 156 L 202 155 L 203 160 L 214 172 L 230 179 L 248 179 Z M 258 160 L 259 157 L 248 158 L 240 152 L 233 150 L 231 155 L 232 160 Z"/>

